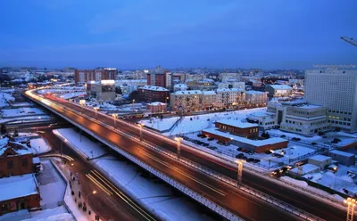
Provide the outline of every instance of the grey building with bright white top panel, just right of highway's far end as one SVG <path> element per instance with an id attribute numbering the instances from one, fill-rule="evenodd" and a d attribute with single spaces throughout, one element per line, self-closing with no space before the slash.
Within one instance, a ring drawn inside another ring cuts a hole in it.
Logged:
<path id="1" fill-rule="evenodd" d="M 115 81 L 101 80 L 89 81 L 87 83 L 87 95 L 96 100 L 114 101 L 115 100 Z"/>

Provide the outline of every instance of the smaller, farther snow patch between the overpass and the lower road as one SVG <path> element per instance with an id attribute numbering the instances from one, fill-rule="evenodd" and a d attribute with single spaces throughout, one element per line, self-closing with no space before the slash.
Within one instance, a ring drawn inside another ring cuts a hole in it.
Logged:
<path id="1" fill-rule="evenodd" d="M 84 135 L 81 135 L 80 139 L 79 133 L 77 133 L 73 128 L 57 129 L 53 130 L 53 132 L 55 135 L 65 137 L 71 147 L 77 148 L 77 150 L 80 151 L 85 158 L 97 158 L 106 153 L 104 147 L 101 146 L 101 143 L 94 143 Z M 80 147 L 80 149 L 78 149 L 78 147 Z"/>

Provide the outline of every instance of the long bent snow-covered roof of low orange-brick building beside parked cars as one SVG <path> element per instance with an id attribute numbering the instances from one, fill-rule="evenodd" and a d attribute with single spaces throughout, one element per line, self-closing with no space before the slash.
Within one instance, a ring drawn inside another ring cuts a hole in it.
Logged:
<path id="1" fill-rule="evenodd" d="M 241 143 L 247 143 L 253 146 L 263 146 L 263 145 L 269 145 L 269 144 L 275 144 L 275 143 L 282 143 L 282 142 L 287 142 L 286 139 L 280 138 L 280 137 L 272 137 L 266 140 L 250 140 L 242 136 L 238 135 L 230 135 L 228 133 L 222 132 L 217 128 L 209 128 L 209 129 L 203 129 L 203 132 L 211 133 L 214 135 L 220 135 L 222 137 L 232 139 L 237 142 Z"/>

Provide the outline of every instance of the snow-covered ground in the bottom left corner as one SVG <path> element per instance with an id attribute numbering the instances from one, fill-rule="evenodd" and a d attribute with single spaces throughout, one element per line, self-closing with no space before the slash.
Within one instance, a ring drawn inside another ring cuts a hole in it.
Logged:
<path id="1" fill-rule="evenodd" d="M 68 213 L 64 206 L 54 209 L 38 210 L 29 212 L 27 209 L 22 209 L 16 212 L 8 213 L 0 216 L 0 220 L 6 221 L 74 221 L 74 218 Z"/>

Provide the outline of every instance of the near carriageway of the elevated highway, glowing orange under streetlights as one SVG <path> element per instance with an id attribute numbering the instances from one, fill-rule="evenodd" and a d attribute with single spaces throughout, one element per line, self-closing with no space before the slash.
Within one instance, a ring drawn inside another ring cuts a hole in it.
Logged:
<path id="1" fill-rule="evenodd" d="M 220 180 L 203 174 L 195 168 L 189 167 L 186 164 L 178 162 L 161 152 L 154 151 L 151 148 L 146 148 L 142 143 L 137 143 L 127 136 L 119 135 L 117 132 L 108 129 L 106 126 L 98 124 L 93 119 L 87 119 L 82 114 L 64 109 L 63 106 L 54 103 L 49 104 L 55 111 L 59 111 L 69 119 L 86 127 L 96 135 L 103 137 L 110 143 L 114 143 L 122 150 L 129 152 L 137 157 L 137 159 L 145 161 L 151 167 L 169 175 L 171 178 L 179 181 L 181 184 L 187 185 L 190 189 L 198 192 L 207 199 L 219 204 L 225 209 L 232 211 L 239 217 L 245 220 L 296 220 L 297 217 L 285 210 L 272 206 L 269 203 L 262 201 L 252 195 L 243 192 L 237 187 L 221 182 Z M 67 105 L 67 104 L 66 104 Z M 71 103 L 68 107 L 71 107 Z M 77 106 L 73 108 L 78 109 Z M 81 108 L 79 108 L 81 109 Z M 86 112 L 86 110 L 79 110 Z M 86 112 L 87 114 L 87 112 Z M 94 112 L 88 112 L 88 115 L 95 117 Z M 103 118 L 101 121 L 114 124 L 112 119 L 107 119 L 98 115 L 98 118 Z M 117 123 L 117 122 L 116 122 Z M 122 127 L 127 129 L 128 127 Z M 149 138 L 149 137 L 147 137 Z"/>

